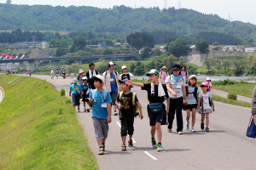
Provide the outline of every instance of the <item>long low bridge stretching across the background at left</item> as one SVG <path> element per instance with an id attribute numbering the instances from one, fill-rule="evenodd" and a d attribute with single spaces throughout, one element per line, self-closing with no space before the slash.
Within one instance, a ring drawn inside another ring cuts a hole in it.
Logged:
<path id="1" fill-rule="evenodd" d="M 0 60 L 0 64 L 4 63 L 20 63 L 28 62 L 29 69 L 32 71 L 35 67 L 35 62 L 37 61 L 54 61 L 55 67 L 59 67 L 61 60 L 63 59 L 75 59 L 76 63 L 82 65 L 82 59 L 92 59 L 94 63 L 100 61 L 100 59 L 106 59 L 107 61 L 111 61 L 113 58 L 118 59 L 119 61 L 131 60 L 138 57 L 139 54 L 106 54 L 106 55 L 83 55 L 83 56 L 61 56 L 61 57 L 47 57 L 47 58 L 29 58 L 29 59 L 4 59 Z"/>

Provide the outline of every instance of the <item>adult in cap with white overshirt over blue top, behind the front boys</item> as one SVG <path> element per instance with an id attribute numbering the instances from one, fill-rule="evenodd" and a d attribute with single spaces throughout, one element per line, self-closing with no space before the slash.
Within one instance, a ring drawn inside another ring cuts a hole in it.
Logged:
<path id="1" fill-rule="evenodd" d="M 117 71 L 114 71 L 114 65 L 115 64 L 113 62 L 109 62 L 108 71 L 105 71 L 102 74 L 102 77 L 104 78 L 105 88 L 111 95 L 113 115 L 117 116 L 118 113 L 116 111 L 117 106 L 115 105 L 115 99 L 119 91 L 119 73 Z"/>

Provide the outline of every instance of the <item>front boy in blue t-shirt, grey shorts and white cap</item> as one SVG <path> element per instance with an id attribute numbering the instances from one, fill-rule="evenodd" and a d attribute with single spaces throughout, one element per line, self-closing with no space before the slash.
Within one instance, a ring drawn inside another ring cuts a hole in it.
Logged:
<path id="1" fill-rule="evenodd" d="M 101 75 L 96 75 L 91 79 L 94 81 L 96 89 L 90 92 L 88 105 L 92 105 L 91 118 L 100 147 L 99 155 L 103 155 L 108 138 L 108 123 L 111 122 L 112 99 L 108 90 L 103 88 L 104 78 Z"/>

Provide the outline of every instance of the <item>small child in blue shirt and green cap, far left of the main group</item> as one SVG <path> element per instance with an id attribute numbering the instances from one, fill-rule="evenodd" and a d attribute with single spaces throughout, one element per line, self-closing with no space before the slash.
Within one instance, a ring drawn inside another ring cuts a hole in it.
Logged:
<path id="1" fill-rule="evenodd" d="M 74 78 L 73 79 L 73 84 L 69 88 L 69 96 L 72 97 L 72 105 L 73 109 L 76 108 L 76 105 L 78 106 L 78 111 L 80 112 L 80 98 L 82 98 L 82 90 L 83 88 L 81 87 L 80 84 L 78 84 L 78 79 Z M 72 94 L 72 96 L 71 96 Z"/>

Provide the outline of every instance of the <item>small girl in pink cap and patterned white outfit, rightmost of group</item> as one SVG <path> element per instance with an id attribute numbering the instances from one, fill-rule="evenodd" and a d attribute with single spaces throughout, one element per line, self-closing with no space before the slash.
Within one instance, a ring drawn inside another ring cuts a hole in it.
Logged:
<path id="1" fill-rule="evenodd" d="M 205 128 L 205 117 L 206 117 L 206 131 L 210 132 L 209 129 L 209 114 L 212 113 L 212 111 L 215 111 L 213 101 L 212 101 L 212 94 L 208 92 L 208 83 L 202 82 L 201 85 L 202 92 L 199 94 L 198 98 L 198 106 L 197 110 L 198 113 L 201 113 L 201 130 L 204 130 Z"/>

